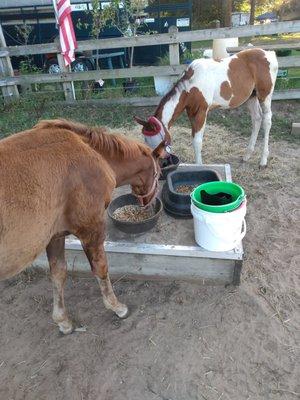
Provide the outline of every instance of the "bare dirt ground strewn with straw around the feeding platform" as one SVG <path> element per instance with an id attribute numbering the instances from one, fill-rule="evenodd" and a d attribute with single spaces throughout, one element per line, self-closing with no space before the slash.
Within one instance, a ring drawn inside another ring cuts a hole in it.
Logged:
<path id="1" fill-rule="evenodd" d="M 173 139 L 192 161 L 189 129 L 173 129 Z M 204 162 L 230 163 L 247 192 L 240 287 L 117 281 L 131 309 L 120 321 L 91 277 L 70 277 L 66 304 L 87 331 L 61 336 L 48 277 L 1 282 L 0 399 L 299 398 L 299 148 L 271 143 L 259 170 L 258 151 L 240 162 L 247 140 L 210 125 L 203 149 Z"/>

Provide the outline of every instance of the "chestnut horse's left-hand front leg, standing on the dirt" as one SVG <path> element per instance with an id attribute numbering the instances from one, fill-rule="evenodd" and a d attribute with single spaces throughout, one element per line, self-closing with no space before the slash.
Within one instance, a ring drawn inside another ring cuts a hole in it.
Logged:
<path id="1" fill-rule="evenodd" d="M 71 333 L 73 326 L 71 320 L 68 318 L 64 302 L 64 286 L 67 278 L 65 238 L 52 239 L 46 250 L 53 284 L 52 317 L 62 333 Z"/>

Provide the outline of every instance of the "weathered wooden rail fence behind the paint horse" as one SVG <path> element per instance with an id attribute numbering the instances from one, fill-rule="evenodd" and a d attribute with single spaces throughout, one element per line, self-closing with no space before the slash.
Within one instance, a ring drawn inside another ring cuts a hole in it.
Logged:
<path id="1" fill-rule="evenodd" d="M 86 72 L 70 72 L 63 65 L 63 60 L 60 54 L 59 44 L 46 43 L 27 46 L 11 46 L 6 47 L 4 36 L 0 26 L 0 87 L 2 95 L 6 101 L 16 99 L 19 95 L 18 86 L 31 87 L 36 83 L 61 83 L 65 94 L 65 99 L 68 102 L 75 101 L 75 91 L 73 82 L 76 81 L 97 81 L 101 79 L 117 79 L 117 78 L 133 78 L 133 77 L 153 77 L 153 76 L 166 76 L 166 75 L 179 75 L 186 68 L 186 65 L 180 65 L 179 59 L 179 43 L 182 42 L 195 42 L 201 40 L 209 40 L 216 38 L 229 38 L 229 37 L 248 37 L 248 36 L 265 36 L 278 33 L 291 33 L 300 32 L 300 21 L 287 21 L 277 22 L 265 25 L 243 26 L 237 28 L 218 28 L 218 29 L 205 29 L 187 32 L 178 32 L 176 27 L 170 27 L 168 33 L 145 35 L 137 37 L 120 37 L 113 39 L 94 39 L 78 42 L 78 51 L 87 50 L 104 50 L 120 47 L 140 47 L 140 46 L 155 46 L 167 44 L 169 45 L 169 62 L 170 65 L 166 66 L 149 66 L 149 67 L 132 67 L 125 69 L 114 70 L 95 70 Z M 276 44 L 261 46 L 266 49 L 281 49 L 293 48 L 300 49 L 300 42 L 287 44 Z M 242 48 L 231 48 L 230 51 L 239 51 Z M 35 54 L 56 53 L 58 62 L 61 67 L 61 73 L 58 74 L 30 74 L 14 76 L 11 67 L 10 57 L 12 56 L 26 56 Z M 300 67 L 300 57 L 279 57 L 280 68 L 293 68 Z M 282 93 L 279 91 L 274 95 L 275 99 L 288 99 L 300 98 L 300 89 L 287 90 Z M 155 98 L 154 98 L 155 99 Z M 153 98 L 149 99 L 152 104 L 157 102 Z M 131 103 L 138 104 L 139 99 L 131 99 Z M 126 100 L 125 100 L 126 101 Z M 147 103 L 146 99 L 143 100 L 143 105 Z"/>

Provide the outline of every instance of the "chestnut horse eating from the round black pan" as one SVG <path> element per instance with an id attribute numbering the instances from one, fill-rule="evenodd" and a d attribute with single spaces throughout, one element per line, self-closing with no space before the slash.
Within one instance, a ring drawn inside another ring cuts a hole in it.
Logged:
<path id="1" fill-rule="evenodd" d="M 0 279 L 24 270 L 46 248 L 53 282 L 53 319 L 61 332 L 73 325 L 64 305 L 65 236 L 77 236 L 99 282 L 106 308 L 120 318 L 103 242 L 105 209 L 114 188 L 129 184 L 146 205 L 155 198 L 158 158 L 154 151 L 103 128 L 41 121 L 0 141 Z"/>

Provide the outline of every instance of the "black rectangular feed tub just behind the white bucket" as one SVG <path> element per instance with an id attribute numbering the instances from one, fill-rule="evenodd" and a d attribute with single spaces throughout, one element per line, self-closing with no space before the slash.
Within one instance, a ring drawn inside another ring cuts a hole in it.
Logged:
<path id="1" fill-rule="evenodd" d="M 196 166 L 171 172 L 162 189 L 165 211 L 175 218 L 192 218 L 190 193 L 178 193 L 178 186 L 199 186 L 202 183 L 220 180 L 221 177 L 215 170 Z"/>

